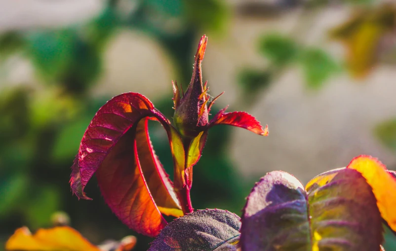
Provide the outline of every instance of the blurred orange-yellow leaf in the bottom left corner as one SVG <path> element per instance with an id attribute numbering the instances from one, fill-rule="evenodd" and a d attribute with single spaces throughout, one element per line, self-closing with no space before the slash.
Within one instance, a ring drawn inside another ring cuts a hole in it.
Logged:
<path id="1" fill-rule="evenodd" d="M 7 251 L 100 251 L 75 229 L 68 226 L 39 229 L 34 235 L 27 227 L 18 228 L 5 244 Z"/>

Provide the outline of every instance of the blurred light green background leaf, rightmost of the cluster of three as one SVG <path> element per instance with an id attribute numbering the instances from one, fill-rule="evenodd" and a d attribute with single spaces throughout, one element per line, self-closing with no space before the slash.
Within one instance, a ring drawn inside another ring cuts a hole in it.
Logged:
<path id="1" fill-rule="evenodd" d="M 334 72 L 337 63 L 323 50 L 310 48 L 303 51 L 301 63 L 308 87 L 321 87 Z"/>

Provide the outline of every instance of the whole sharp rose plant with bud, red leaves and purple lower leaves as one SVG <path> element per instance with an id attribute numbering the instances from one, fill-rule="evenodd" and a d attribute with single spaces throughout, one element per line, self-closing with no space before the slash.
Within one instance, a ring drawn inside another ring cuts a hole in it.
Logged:
<path id="1" fill-rule="evenodd" d="M 190 190 L 208 130 L 233 125 L 267 136 L 246 112 L 209 119 L 210 101 L 201 62 L 207 37 L 195 55 L 184 92 L 173 83 L 173 125 L 143 95 L 124 93 L 98 110 L 72 166 L 70 185 L 79 198 L 95 174 L 105 202 L 138 233 L 155 237 L 149 251 L 379 251 L 385 228 L 396 230 L 396 174 L 361 155 L 346 168 L 313 178 L 306 186 L 274 171 L 252 188 L 242 217 L 220 209 L 194 212 Z M 165 129 L 173 156 L 173 182 L 151 143 L 148 121 Z M 215 168 L 215 167 L 214 167 Z M 167 222 L 163 215 L 176 219 Z M 69 251 L 69 250 L 68 250 Z"/>

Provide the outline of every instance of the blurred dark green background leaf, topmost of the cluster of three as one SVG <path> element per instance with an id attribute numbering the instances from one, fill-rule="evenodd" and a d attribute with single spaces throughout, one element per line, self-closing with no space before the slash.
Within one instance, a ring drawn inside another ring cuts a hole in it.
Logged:
<path id="1" fill-rule="evenodd" d="M 261 39 L 260 51 L 276 66 L 284 66 L 295 59 L 298 47 L 290 38 L 267 35 Z"/>

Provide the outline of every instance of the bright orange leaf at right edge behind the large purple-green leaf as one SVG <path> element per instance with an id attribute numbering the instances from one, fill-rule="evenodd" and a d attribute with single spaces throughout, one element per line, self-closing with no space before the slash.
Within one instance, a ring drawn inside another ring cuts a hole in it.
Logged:
<path id="1" fill-rule="evenodd" d="M 347 168 L 355 169 L 367 180 L 373 189 L 382 217 L 396 231 L 396 179 L 387 172 L 384 164 L 371 156 L 358 156 Z"/>

